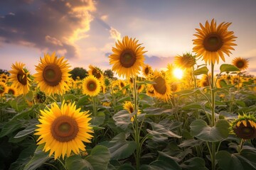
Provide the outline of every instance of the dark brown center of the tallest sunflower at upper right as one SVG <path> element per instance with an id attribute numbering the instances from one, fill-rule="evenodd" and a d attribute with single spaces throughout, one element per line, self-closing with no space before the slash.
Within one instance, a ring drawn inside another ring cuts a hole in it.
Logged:
<path id="1" fill-rule="evenodd" d="M 203 40 L 203 47 L 210 52 L 217 52 L 223 46 L 223 40 L 220 35 L 213 33 L 206 36 Z"/>

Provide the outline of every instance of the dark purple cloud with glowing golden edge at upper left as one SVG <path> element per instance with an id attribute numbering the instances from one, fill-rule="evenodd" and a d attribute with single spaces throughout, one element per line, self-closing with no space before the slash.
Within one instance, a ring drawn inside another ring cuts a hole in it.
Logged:
<path id="1" fill-rule="evenodd" d="M 78 57 L 75 41 L 90 30 L 92 0 L 0 1 L 0 41 Z"/>

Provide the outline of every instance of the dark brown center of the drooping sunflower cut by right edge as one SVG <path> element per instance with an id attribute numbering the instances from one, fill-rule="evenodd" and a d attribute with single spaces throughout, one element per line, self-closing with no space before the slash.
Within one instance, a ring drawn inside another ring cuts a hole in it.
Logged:
<path id="1" fill-rule="evenodd" d="M 256 137 L 256 129 L 248 122 L 247 126 L 243 125 L 242 123 L 240 126 L 236 126 L 234 128 L 234 132 L 235 135 L 245 140 L 250 140 Z"/>

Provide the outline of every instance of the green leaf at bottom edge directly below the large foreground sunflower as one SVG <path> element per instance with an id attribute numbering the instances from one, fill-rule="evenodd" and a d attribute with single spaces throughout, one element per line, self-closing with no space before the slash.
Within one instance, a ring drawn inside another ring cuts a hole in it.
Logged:
<path id="1" fill-rule="evenodd" d="M 65 159 L 65 166 L 68 170 L 90 170 L 92 165 L 87 160 L 82 159 L 78 155 L 74 155 Z"/>

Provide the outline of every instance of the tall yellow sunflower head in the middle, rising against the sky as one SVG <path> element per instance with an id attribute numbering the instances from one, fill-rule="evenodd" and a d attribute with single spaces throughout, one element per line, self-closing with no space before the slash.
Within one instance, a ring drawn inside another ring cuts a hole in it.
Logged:
<path id="1" fill-rule="evenodd" d="M 118 40 L 116 47 L 112 47 L 114 52 L 110 55 L 110 64 L 114 64 L 112 70 L 122 77 L 136 77 L 140 67 L 144 65 L 144 47 L 137 44 L 135 38 L 125 36 L 122 42 Z"/>

